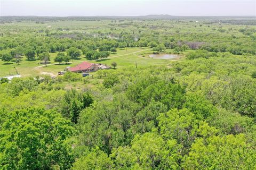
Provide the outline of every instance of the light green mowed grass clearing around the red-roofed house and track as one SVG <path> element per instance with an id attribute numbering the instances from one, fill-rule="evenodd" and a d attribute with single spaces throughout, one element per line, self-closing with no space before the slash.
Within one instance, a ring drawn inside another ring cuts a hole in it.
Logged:
<path id="1" fill-rule="evenodd" d="M 143 50 L 143 51 L 142 51 Z M 141 51 L 141 52 L 140 52 Z M 135 53 L 138 52 L 138 53 Z M 167 52 L 172 52 L 172 50 L 167 50 Z M 132 53 L 132 54 L 130 54 Z M 134 66 L 137 64 L 137 67 L 146 66 L 146 65 L 158 65 L 158 64 L 168 64 L 172 61 L 169 60 L 156 60 L 153 58 L 148 58 L 149 54 L 153 53 L 149 47 L 144 48 L 125 48 L 125 49 L 117 49 L 116 54 L 111 54 L 107 60 L 102 61 L 88 61 L 91 63 L 101 63 L 107 64 L 108 66 L 111 63 L 117 63 L 117 69 L 120 67 Z M 83 61 L 87 61 L 83 56 L 79 60 L 74 60 L 74 63 L 70 61 L 70 63 L 55 63 L 54 57 L 57 53 L 51 53 L 51 64 L 48 64 L 47 67 L 44 64 L 39 64 L 40 61 L 27 61 L 26 57 L 22 58 L 20 65 L 10 62 L 8 64 L 0 61 L 0 77 L 5 77 L 7 75 L 15 75 L 17 72 L 21 75 L 21 77 L 28 77 L 39 74 L 52 74 L 56 75 L 59 71 L 64 70 L 67 66 L 75 66 Z M 145 56 L 145 57 L 143 57 Z M 17 71 L 16 71 L 17 70 Z"/>

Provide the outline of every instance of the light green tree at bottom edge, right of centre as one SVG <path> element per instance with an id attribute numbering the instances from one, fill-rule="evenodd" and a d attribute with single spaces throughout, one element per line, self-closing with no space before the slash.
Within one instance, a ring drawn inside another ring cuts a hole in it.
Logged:
<path id="1" fill-rule="evenodd" d="M 179 169 L 175 140 L 165 142 L 154 132 L 136 135 L 131 147 L 118 147 L 110 157 L 117 169 Z"/>

